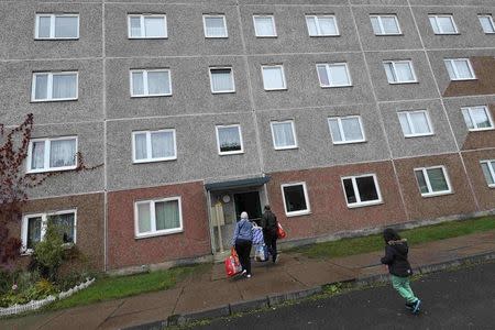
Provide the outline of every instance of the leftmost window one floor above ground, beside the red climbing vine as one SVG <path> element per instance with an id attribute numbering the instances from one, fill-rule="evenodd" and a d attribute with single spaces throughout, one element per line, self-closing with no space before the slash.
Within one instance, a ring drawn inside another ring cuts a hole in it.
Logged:
<path id="1" fill-rule="evenodd" d="M 28 173 L 77 167 L 77 138 L 34 139 L 28 150 Z"/>

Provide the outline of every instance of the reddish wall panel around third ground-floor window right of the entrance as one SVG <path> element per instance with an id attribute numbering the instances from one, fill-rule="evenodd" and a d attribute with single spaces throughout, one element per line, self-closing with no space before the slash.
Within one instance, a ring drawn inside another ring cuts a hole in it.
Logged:
<path id="1" fill-rule="evenodd" d="M 396 160 L 395 164 L 410 220 L 436 219 L 476 211 L 475 201 L 458 154 Z M 446 166 L 453 194 L 425 198 L 419 193 L 414 168 L 437 165 Z"/>

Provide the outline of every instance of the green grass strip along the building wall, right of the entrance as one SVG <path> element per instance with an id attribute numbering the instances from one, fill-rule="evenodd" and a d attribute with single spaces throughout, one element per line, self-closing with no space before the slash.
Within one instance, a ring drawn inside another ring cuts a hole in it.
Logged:
<path id="1" fill-rule="evenodd" d="M 484 217 L 404 230 L 399 234 L 414 245 L 493 229 L 495 229 L 495 217 Z M 383 246 L 382 234 L 375 234 L 295 248 L 288 252 L 298 252 L 314 258 L 326 258 L 380 251 Z"/>

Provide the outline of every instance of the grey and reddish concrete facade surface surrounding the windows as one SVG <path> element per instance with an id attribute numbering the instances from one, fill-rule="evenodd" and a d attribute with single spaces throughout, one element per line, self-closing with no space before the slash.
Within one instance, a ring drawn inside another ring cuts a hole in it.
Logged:
<path id="1" fill-rule="evenodd" d="M 36 13 L 78 13 L 79 37 L 35 40 Z M 167 37 L 129 38 L 128 15 L 140 13 L 165 14 Z M 224 15 L 228 37 L 205 37 L 204 14 Z M 257 14 L 274 16 L 276 37 L 255 36 Z M 334 15 L 339 35 L 309 36 L 306 14 Z M 400 34 L 375 35 L 371 14 L 395 14 Z M 459 33 L 436 35 L 429 14 L 452 14 Z M 493 1 L 0 0 L 0 122 L 33 113 L 33 138 L 77 135 L 86 163 L 103 164 L 30 193 L 38 212 L 63 209 L 57 198 L 101 196 L 98 217 L 77 223 L 78 235 L 101 231 L 99 251 L 88 248 L 101 270 L 211 254 L 210 207 L 229 195 L 230 205 L 221 202 L 235 216 L 235 193 L 261 191 L 292 240 L 493 211 L 495 190 L 480 162 L 495 160 L 495 130 L 469 131 L 461 112 L 486 106 L 495 120 L 495 34 L 483 32 L 477 14 L 495 15 Z M 452 81 L 444 58 L 470 58 L 476 79 Z M 383 62 L 405 59 L 417 81 L 389 84 Z M 346 63 L 351 86 L 320 87 L 322 63 Z M 261 66 L 275 64 L 286 89 L 267 91 Z M 235 91 L 212 94 L 209 67 L 231 67 Z M 131 97 L 130 70 L 156 68 L 169 69 L 172 95 Z M 33 73 L 63 70 L 78 72 L 77 100 L 32 102 Z M 428 111 L 431 134 L 404 135 L 397 112 L 413 110 Z M 348 116 L 361 117 L 364 141 L 332 143 L 328 118 Z M 285 120 L 294 121 L 297 147 L 274 150 L 271 122 Z M 243 153 L 219 155 L 216 125 L 229 124 L 240 124 Z M 163 129 L 176 132 L 176 160 L 133 163 L 132 132 Z M 452 191 L 422 197 L 414 170 L 437 165 Z M 362 174 L 376 176 L 382 202 L 349 208 L 341 179 Z M 262 187 L 205 188 L 262 176 L 271 177 Z M 310 213 L 288 217 L 280 186 L 301 182 Z M 183 232 L 136 238 L 134 204 L 175 196 Z"/>

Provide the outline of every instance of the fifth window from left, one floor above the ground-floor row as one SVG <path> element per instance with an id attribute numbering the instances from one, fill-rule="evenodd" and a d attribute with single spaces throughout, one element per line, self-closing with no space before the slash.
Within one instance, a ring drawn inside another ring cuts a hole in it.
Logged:
<path id="1" fill-rule="evenodd" d="M 328 119 L 333 144 L 364 142 L 360 116 L 333 117 Z"/>

